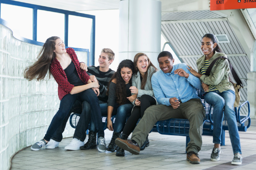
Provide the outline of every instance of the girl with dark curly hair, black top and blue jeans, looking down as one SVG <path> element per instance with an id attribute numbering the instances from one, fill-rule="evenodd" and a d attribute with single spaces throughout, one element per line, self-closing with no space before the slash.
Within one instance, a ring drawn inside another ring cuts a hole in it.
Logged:
<path id="1" fill-rule="evenodd" d="M 136 95 L 132 95 L 130 90 L 133 73 L 134 66 L 132 60 L 121 61 L 117 72 L 112 76 L 108 86 L 107 127 L 109 130 L 114 131 L 107 148 L 110 152 L 114 152 L 117 149 L 114 141 L 120 136 L 126 122 L 126 117 L 131 115 L 133 108 L 131 101 L 136 99 Z M 112 115 L 116 115 L 114 126 L 111 121 Z"/>

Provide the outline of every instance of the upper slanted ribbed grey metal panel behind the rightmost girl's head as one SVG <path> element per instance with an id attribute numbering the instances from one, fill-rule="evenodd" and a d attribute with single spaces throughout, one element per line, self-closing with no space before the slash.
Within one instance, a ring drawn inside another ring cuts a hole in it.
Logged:
<path id="1" fill-rule="evenodd" d="M 206 33 L 228 36 L 230 43 L 219 43 L 225 54 L 245 54 L 228 21 L 166 23 L 161 30 L 179 56 L 202 55 L 200 41 Z"/>

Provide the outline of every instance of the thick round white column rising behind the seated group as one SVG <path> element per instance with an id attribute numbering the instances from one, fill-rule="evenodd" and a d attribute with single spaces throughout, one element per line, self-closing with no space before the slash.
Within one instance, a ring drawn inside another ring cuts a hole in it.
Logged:
<path id="1" fill-rule="evenodd" d="M 145 53 L 159 68 L 161 51 L 161 2 L 123 0 L 119 7 L 119 62 Z"/>

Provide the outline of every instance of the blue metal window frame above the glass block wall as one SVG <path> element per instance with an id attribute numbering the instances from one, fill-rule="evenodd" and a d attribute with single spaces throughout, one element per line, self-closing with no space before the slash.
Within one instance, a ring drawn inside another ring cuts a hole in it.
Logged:
<path id="1" fill-rule="evenodd" d="M 91 38 L 90 38 L 90 53 L 88 49 L 82 49 L 82 48 L 74 48 L 77 51 L 87 51 L 89 54 L 89 57 L 87 56 L 87 64 L 89 66 L 92 66 L 95 64 L 94 54 L 95 54 L 95 16 L 88 15 L 88 14 L 82 14 L 79 12 L 74 11 L 68 11 L 63 9 L 56 9 L 56 8 L 50 8 L 45 6 L 39 6 L 39 5 L 33 5 L 33 4 L 27 4 L 27 3 L 21 3 L 17 1 L 10 1 L 10 0 L 0 0 L 0 18 L 1 18 L 1 4 L 8 4 L 8 5 L 16 5 L 21 7 L 27 7 L 33 9 L 33 40 L 29 40 L 27 38 L 23 37 L 16 37 L 20 41 L 24 41 L 31 44 L 41 45 L 42 43 L 37 42 L 37 10 L 46 10 L 51 12 L 58 12 L 65 15 L 65 44 L 68 46 L 68 16 L 78 16 L 78 17 L 85 17 L 85 18 L 91 18 L 92 19 L 92 28 L 91 28 Z M 8 27 L 8 23 L 5 22 L 5 20 L 0 19 L 0 23 Z"/>

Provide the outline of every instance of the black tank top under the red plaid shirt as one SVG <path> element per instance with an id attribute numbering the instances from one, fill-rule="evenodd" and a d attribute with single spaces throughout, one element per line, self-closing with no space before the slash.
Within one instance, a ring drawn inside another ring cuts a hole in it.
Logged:
<path id="1" fill-rule="evenodd" d="M 67 75 L 67 80 L 70 84 L 73 84 L 74 86 L 85 85 L 85 83 L 82 82 L 82 80 L 80 80 L 73 61 L 71 61 L 71 63 L 68 65 L 66 69 L 64 69 L 64 71 Z"/>

